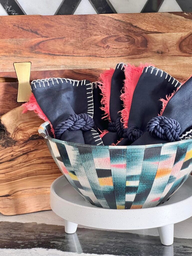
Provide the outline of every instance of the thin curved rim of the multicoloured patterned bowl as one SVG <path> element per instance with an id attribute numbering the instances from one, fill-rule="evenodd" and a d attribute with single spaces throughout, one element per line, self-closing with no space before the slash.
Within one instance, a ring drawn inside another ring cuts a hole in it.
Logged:
<path id="1" fill-rule="evenodd" d="M 52 138 L 48 135 L 46 135 L 45 133 L 42 132 L 42 128 L 44 128 L 45 125 L 48 125 L 49 123 L 48 122 L 45 122 L 45 123 L 42 123 L 39 127 L 39 134 L 44 138 L 44 139 L 47 139 L 47 140 L 50 140 L 52 142 L 55 142 L 55 143 L 59 143 L 59 144 L 63 144 L 63 145 L 69 145 L 69 146 L 78 146 L 78 147 L 91 147 L 91 148 L 110 148 L 110 149 L 115 149 L 115 148 L 119 148 L 119 149 L 125 149 L 125 148 L 130 148 L 130 149 L 134 149 L 134 148 L 150 148 L 150 147 L 168 147 L 168 146 L 173 146 L 173 145 L 178 145 L 178 144 L 183 144 L 183 143 L 189 143 L 189 142 L 192 142 L 192 138 L 190 139 L 185 139 L 185 140 L 180 140 L 180 141 L 175 141 L 175 142 L 167 142 L 167 143 L 159 143 L 159 144 L 149 144 L 149 145 L 127 145 L 127 146 L 111 146 L 111 145 L 89 145 L 89 144 L 82 144 L 82 143 L 75 143 L 75 142 L 68 142 L 68 141 L 61 141 L 61 140 L 58 140 L 56 138 Z"/>

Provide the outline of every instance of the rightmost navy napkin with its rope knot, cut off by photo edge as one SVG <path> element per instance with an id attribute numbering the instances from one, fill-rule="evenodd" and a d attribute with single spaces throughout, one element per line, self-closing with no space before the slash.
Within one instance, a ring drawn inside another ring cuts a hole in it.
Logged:
<path id="1" fill-rule="evenodd" d="M 161 116 L 149 120 L 145 132 L 132 145 L 148 145 L 190 138 L 192 132 L 192 77 L 169 98 Z"/>

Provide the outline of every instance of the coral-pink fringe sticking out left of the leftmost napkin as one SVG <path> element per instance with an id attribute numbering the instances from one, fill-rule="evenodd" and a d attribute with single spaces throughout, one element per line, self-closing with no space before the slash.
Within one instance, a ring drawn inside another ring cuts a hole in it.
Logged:
<path id="1" fill-rule="evenodd" d="M 31 95 L 29 97 L 29 101 L 24 103 L 22 105 L 22 107 L 24 108 L 22 114 L 27 113 L 28 110 L 33 110 L 39 116 L 39 118 L 43 119 L 45 122 L 48 121 L 50 123 L 50 121 L 48 120 L 47 116 L 43 113 L 43 111 L 41 110 L 39 104 L 37 103 L 33 93 L 31 93 Z M 55 137 L 54 129 L 53 129 L 53 126 L 52 126 L 51 123 L 50 123 L 50 126 L 51 126 L 51 132 L 52 132 L 52 134 Z"/>

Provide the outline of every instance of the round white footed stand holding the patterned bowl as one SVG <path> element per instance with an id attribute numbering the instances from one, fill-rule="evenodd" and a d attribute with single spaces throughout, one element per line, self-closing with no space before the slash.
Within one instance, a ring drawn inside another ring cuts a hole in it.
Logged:
<path id="1" fill-rule="evenodd" d="M 163 205 L 133 210 L 103 209 L 86 202 L 64 176 L 51 185 L 52 210 L 65 219 L 65 232 L 76 232 L 78 224 L 111 230 L 158 228 L 162 244 L 173 243 L 174 223 L 192 216 L 192 176 Z"/>

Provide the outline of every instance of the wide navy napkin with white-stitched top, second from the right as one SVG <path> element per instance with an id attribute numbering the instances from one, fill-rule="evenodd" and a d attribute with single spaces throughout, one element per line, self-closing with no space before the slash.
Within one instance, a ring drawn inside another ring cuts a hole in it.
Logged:
<path id="1" fill-rule="evenodd" d="M 148 66 L 135 87 L 124 139 L 118 145 L 130 145 L 147 130 L 147 123 L 161 110 L 161 101 L 181 84 L 161 69 Z M 136 145 L 136 144 L 133 144 Z"/>

